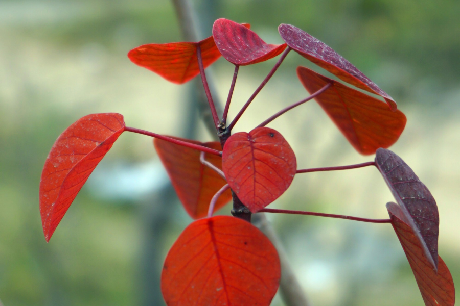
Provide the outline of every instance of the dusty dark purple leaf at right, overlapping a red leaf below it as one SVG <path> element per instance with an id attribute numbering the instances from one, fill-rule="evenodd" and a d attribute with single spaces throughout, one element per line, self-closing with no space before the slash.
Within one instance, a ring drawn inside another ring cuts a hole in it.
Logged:
<path id="1" fill-rule="evenodd" d="M 401 207 L 433 269 L 438 268 L 439 213 L 436 201 L 417 175 L 394 152 L 378 149 L 375 163 Z"/>

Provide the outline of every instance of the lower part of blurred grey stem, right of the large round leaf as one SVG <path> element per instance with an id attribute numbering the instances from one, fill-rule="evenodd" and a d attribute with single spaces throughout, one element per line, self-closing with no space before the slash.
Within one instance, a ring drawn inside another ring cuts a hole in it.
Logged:
<path id="1" fill-rule="evenodd" d="M 274 247 L 278 250 L 281 264 L 280 293 L 283 296 L 283 301 L 288 306 L 308 306 L 307 297 L 295 277 L 294 271 L 289 264 L 286 251 L 284 250 L 280 238 L 273 230 L 270 221 L 267 220 L 265 214 L 255 214 L 252 219 L 254 220 L 254 225 L 259 227 L 259 230 L 270 239 L 271 243 L 273 243 Z"/>

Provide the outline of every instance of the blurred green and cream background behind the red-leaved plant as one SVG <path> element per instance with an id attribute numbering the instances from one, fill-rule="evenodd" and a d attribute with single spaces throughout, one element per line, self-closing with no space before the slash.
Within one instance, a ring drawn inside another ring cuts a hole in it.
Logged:
<path id="1" fill-rule="evenodd" d="M 439 251 L 460 284 L 460 2 L 456 0 L 197 0 L 201 38 L 214 19 L 249 22 L 282 43 L 290 23 L 333 47 L 407 116 L 391 149 L 438 202 Z M 158 272 L 191 222 L 148 137 L 124 134 L 75 199 L 47 244 L 38 210 L 43 163 L 78 118 L 118 112 L 127 125 L 212 140 L 197 119 L 193 86 L 168 83 L 126 54 L 144 43 L 180 41 L 168 0 L 0 0 L 0 299 L 19 305 L 162 305 Z M 276 59 L 242 67 L 229 118 Z M 330 76 L 290 53 L 248 108 L 248 131 L 307 93 L 295 67 Z M 210 71 L 211 73 L 211 71 Z M 226 98 L 233 65 L 212 79 Z M 313 102 L 272 122 L 298 167 L 370 161 Z M 272 208 L 387 218 L 393 200 L 373 168 L 297 175 Z M 231 208 L 221 212 L 228 214 Z M 422 305 L 415 278 L 389 224 L 269 215 L 312 305 Z M 273 305 L 283 305 L 277 296 Z"/>

